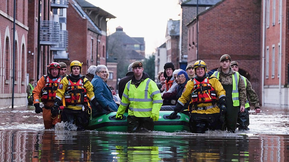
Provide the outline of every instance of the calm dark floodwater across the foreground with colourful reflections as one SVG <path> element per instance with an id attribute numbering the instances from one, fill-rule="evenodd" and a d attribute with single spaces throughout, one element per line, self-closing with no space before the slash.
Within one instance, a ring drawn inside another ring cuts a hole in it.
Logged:
<path id="1" fill-rule="evenodd" d="M 288 161 L 288 135 L 0 131 L 0 161 Z"/>

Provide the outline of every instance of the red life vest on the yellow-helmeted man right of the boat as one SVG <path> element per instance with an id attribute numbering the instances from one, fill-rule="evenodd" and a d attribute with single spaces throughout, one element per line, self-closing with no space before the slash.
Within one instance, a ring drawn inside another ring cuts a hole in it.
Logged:
<path id="1" fill-rule="evenodd" d="M 191 91 L 193 104 L 199 104 L 204 102 L 215 102 L 216 92 L 215 89 L 209 83 L 209 79 L 205 78 L 202 82 L 197 81 L 195 78 L 194 88 Z"/>

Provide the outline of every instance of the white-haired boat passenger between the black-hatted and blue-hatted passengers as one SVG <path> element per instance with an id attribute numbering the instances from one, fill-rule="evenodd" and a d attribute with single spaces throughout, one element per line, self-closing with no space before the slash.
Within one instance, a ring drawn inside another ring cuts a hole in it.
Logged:
<path id="1" fill-rule="evenodd" d="M 177 69 L 173 72 L 173 77 L 174 77 L 174 82 L 177 84 L 177 86 L 179 85 L 179 79 L 177 78 L 178 77 L 178 73 L 182 71 L 182 69 Z M 177 87 L 176 86 L 176 87 Z M 174 106 L 176 105 L 176 100 L 177 100 L 177 97 L 176 97 L 176 87 L 171 87 L 167 92 L 165 93 L 160 93 L 162 95 L 162 98 L 164 101 L 170 101 L 171 104 L 173 105 L 164 105 L 163 106 Z"/>

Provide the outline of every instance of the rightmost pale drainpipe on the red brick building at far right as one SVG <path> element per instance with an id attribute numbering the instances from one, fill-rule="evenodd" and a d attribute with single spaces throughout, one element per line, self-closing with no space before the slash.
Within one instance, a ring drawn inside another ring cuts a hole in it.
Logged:
<path id="1" fill-rule="evenodd" d="M 279 107 L 281 107 L 281 102 L 282 102 L 282 91 L 281 91 L 281 59 L 282 59 L 282 0 L 280 0 L 280 51 L 279 51 L 279 65 L 278 65 L 278 70 L 279 70 Z"/>

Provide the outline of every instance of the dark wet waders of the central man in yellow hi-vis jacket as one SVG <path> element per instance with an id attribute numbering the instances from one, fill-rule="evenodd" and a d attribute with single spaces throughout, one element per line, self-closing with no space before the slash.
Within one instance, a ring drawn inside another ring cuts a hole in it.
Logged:
<path id="1" fill-rule="evenodd" d="M 150 117 L 135 117 L 128 115 L 127 118 L 127 132 L 133 133 L 139 131 L 141 128 L 146 130 L 153 130 L 154 122 Z"/>

